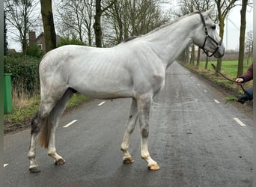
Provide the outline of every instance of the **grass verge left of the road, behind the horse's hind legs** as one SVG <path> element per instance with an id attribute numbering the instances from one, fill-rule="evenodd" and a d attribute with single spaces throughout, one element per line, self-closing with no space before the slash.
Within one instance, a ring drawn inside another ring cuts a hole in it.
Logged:
<path id="1" fill-rule="evenodd" d="M 89 98 L 75 93 L 67 103 L 66 111 L 85 103 Z M 13 113 L 4 114 L 4 133 L 13 132 L 30 126 L 31 119 L 37 113 L 40 104 L 40 96 L 19 96 L 13 91 Z"/>

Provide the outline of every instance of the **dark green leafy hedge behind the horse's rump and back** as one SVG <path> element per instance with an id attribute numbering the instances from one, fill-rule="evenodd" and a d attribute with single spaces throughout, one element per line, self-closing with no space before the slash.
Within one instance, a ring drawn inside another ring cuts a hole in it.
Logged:
<path id="1" fill-rule="evenodd" d="M 61 38 L 58 46 L 68 44 L 85 45 L 75 37 Z M 18 93 L 18 96 L 25 93 L 26 95 L 40 93 L 40 82 L 38 67 L 43 52 L 40 51 L 36 44 L 28 46 L 26 55 L 15 52 L 4 56 L 4 73 L 11 73 L 11 82 L 13 90 Z"/>

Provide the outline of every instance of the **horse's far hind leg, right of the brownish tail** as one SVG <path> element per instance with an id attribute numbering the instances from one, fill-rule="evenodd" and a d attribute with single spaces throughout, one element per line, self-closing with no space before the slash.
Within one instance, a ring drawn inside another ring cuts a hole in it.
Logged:
<path id="1" fill-rule="evenodd" d="M 55 130 L 58 127 L 58 122 L 61 118 L 61 114 L 63 114 L 63 112 L 67 106 L 67 102 L 72 95 L 73 95 L 73 91 L 68 89 L 64 93 L 64 96 L 62 96 L 62 98 L 57 102 L 57 104 L 53 108 L 52 114 L 51 114 L 52 129 L 51 129 L 50 136 L 49 136 L 48 155 L 52 156 L 52 158 L 54 159 L 55 165 L 62 165 L 65 163 L 65 160 L 61 156 L 59 156 L 58 153 L 56 152 Z"/>

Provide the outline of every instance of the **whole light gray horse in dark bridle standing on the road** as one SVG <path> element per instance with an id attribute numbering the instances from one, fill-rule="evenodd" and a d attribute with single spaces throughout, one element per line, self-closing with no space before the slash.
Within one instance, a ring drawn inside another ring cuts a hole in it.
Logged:
<path id="1" fill-rule="evenodd" d="M 62 46 L 48 52 L 40 62 L 41 102 L 31 122 L 29 171 L 39 172 L 36 144 L 48 147 L 56 165 L 65 160 L 55 149 L 55 129 L 73 92 L 99 99 L 132 98 L 121 150 L 124 163 L 134 160 L 129 154 L 129 137 L 139 120 L 141 158 L 150 170 L 159 165 L 147 149 L 149 114 L 153 96 L 165 85 L 165 70 L 190 43 L 200 46 L 207 55 L 224 55 L 225 48 L 210 20 L 213 8 L 191 13 L 172 24 L 163 25 L 141 37 L 112 48 Z"/>

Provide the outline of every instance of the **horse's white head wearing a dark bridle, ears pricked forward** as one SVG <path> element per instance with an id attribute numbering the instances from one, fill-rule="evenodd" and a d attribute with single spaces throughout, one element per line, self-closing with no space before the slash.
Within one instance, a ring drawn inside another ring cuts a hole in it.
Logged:
<path id="1" fill-rule="evenodd" d="M 222 38 L 219 37 L 216 31 L 216 25 L 209 16 L 213 10 L 214 7 L 204 13 L 195 12 L 200 16 L 201 24 L 195 32 L 194 43 L 203 49 L 207 56 L 214 55 L 216 58 L 222 58 L 225 53 L 225 47 L 223 46 Z"/>

